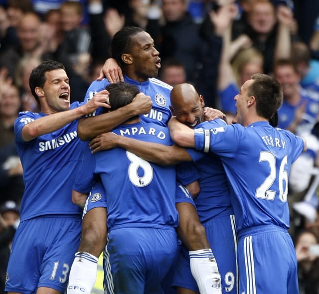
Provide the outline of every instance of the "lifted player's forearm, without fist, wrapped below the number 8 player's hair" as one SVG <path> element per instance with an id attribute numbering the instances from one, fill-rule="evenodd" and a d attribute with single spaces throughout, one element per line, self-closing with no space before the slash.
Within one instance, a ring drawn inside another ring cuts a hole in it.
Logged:
<path id="1" fill-rule="evenodd" d="M 94 117 L 82 118 L 78 124 L 78 136 L 82 141 L 91 140 L 136 116 L 131 105 Z"/>

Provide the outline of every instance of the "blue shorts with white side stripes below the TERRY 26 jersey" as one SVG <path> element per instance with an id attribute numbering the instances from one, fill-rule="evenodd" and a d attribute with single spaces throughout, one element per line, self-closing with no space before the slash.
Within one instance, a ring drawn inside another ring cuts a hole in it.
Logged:
<path id="1" fill-rule="evenodd" d="M 238 237 L 239 293 L 299 294 L 296 252 L 287 230 L 265 225 Z"/>

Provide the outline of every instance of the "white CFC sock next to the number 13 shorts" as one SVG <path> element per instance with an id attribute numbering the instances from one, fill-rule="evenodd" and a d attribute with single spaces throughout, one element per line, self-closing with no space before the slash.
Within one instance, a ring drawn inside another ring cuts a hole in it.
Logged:
<path id="1" fill-rule="evenodd" d="M 87 252 L 77 252 L 71 267 L 67 294 L 90 294 L 95 284 L 98 258 Z"/>

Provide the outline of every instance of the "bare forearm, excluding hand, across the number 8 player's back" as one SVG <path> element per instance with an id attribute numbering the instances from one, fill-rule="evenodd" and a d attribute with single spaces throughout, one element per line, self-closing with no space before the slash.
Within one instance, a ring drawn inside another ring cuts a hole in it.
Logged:
<path id="1" fill-rule="evenodd" d="M 192 161 L 186 149 L 176 145 L 166 146 L 122 136 L 117 141 L 118 147 L 159 165 L 174 165 L 183 161 Z"/>

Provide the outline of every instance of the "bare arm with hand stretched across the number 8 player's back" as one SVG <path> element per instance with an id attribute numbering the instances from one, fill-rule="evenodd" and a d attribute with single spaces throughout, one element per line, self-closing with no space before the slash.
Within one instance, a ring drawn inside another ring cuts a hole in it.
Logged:
<path id="1" fill-rule="evenodd" d="M 192 161 L 185 148 L 173 145 L 166 146 L 158 143 L 144 142 L 114 133 L 102 134 L 90 142 L 92 153 L 101 150 L 120 147 L 141 158 L 159 165 L 174 165 L 183 161 Z"/>

